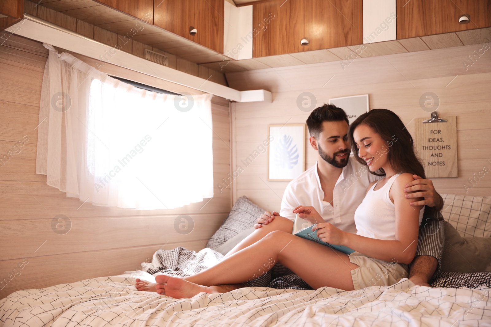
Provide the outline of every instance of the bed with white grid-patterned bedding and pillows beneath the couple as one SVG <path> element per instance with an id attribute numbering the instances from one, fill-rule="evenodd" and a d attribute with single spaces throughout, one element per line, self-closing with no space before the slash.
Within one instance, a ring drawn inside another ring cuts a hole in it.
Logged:
<path id="1" fill-rule="evenodd" d="M 479 263 L 486 265 L 486 255 L 491 255 L 486 253 L 491 246 L 491 224 L 487 223 L 491 198 L 444 198 L 450 208 L 445 213 L 444 207 L 444 218 L 461 238 L 469 243 L 472 234 L 472 238 L 485 241 L 481 248 L 482 244 L 471 242 L 474 248 L 457 251 L 474 251 Z M 247 221 L 234 221 L 234 216 L 244 216 L 244 212 L 254 216 L 255 210 L 262 210 L 247 199 L 239 200 L 206 249 L 198 253 L 183 248 L 161 250 L 151 263 L 143 263 L 140 271 L 12 293 L 0 301 L 0 327 L 491 326 L 491 272 L 484 270 L 442 273 L 432 285 L 443 287 L 434 288 L 416 286 L 404 278 L 391 286 L 357 291 L 312 290 L 301 289 L 300 280 L 286 275 L 271 277 L 269 286 L 277 288 L 244 287 L 222 294 L 200 293 L 191 299 L 136 290 L 135 278 L 155 280 L 149 272 L 185 276 L 218 262 L 219 251 L 226 252 L 251 226 Z M 455 243 L 451 248 L 457 246 Z M 471 266 L 478 264 L 471 255 L 464 256 Z"/>

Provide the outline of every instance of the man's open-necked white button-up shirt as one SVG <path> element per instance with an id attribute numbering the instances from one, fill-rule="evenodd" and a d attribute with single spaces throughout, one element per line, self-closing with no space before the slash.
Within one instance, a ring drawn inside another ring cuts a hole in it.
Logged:
<path id="1" fill-rule="evenodd" d="M 316 162 L 288 183 L 281 201 L 280 216 L 293 221 L 295 214 L 292 211 L 295 207 L 313 206 L 327 223 L 346 232 L 356 233 L 356 208 L 363 201 L 368 185 L 380 178 L 371 174 L 367 166 L 350 157 L 334 186 L 333 199 L 329 203 L 324 201 Z"/>

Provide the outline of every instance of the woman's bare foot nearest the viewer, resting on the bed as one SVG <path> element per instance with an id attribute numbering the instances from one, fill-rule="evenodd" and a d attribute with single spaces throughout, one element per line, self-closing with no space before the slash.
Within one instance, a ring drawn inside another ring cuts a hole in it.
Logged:
<path id="1" fill-rule="evenodd" d="M 158 275 L 155 277 L 155 280 L 157 281 L 157 285 L 155 286 L 157 293 L 170 296 L 174 299 L 192 298 L 202 292 L 217 293 L 211 287 L 191 283 L 182 277 Z"/>

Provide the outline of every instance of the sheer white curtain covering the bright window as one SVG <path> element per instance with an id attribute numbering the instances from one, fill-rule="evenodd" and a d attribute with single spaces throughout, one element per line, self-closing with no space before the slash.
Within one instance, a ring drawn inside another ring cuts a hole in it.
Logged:
<path id="1" fill-rule="evenodd" d="M 48 185 L 120 208 L 213 197 L 211 95 L 142 90 L 44 46 L 36 173 Z"/>

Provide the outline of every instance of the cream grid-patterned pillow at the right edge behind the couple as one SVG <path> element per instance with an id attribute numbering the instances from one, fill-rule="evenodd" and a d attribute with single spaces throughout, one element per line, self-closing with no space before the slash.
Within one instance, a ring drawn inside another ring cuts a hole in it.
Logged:
<path id="1" fill-rule="evenodd" d="M 463 237 L 491 237 L 491 197 L 442 194 L 441 214 Z"/>

